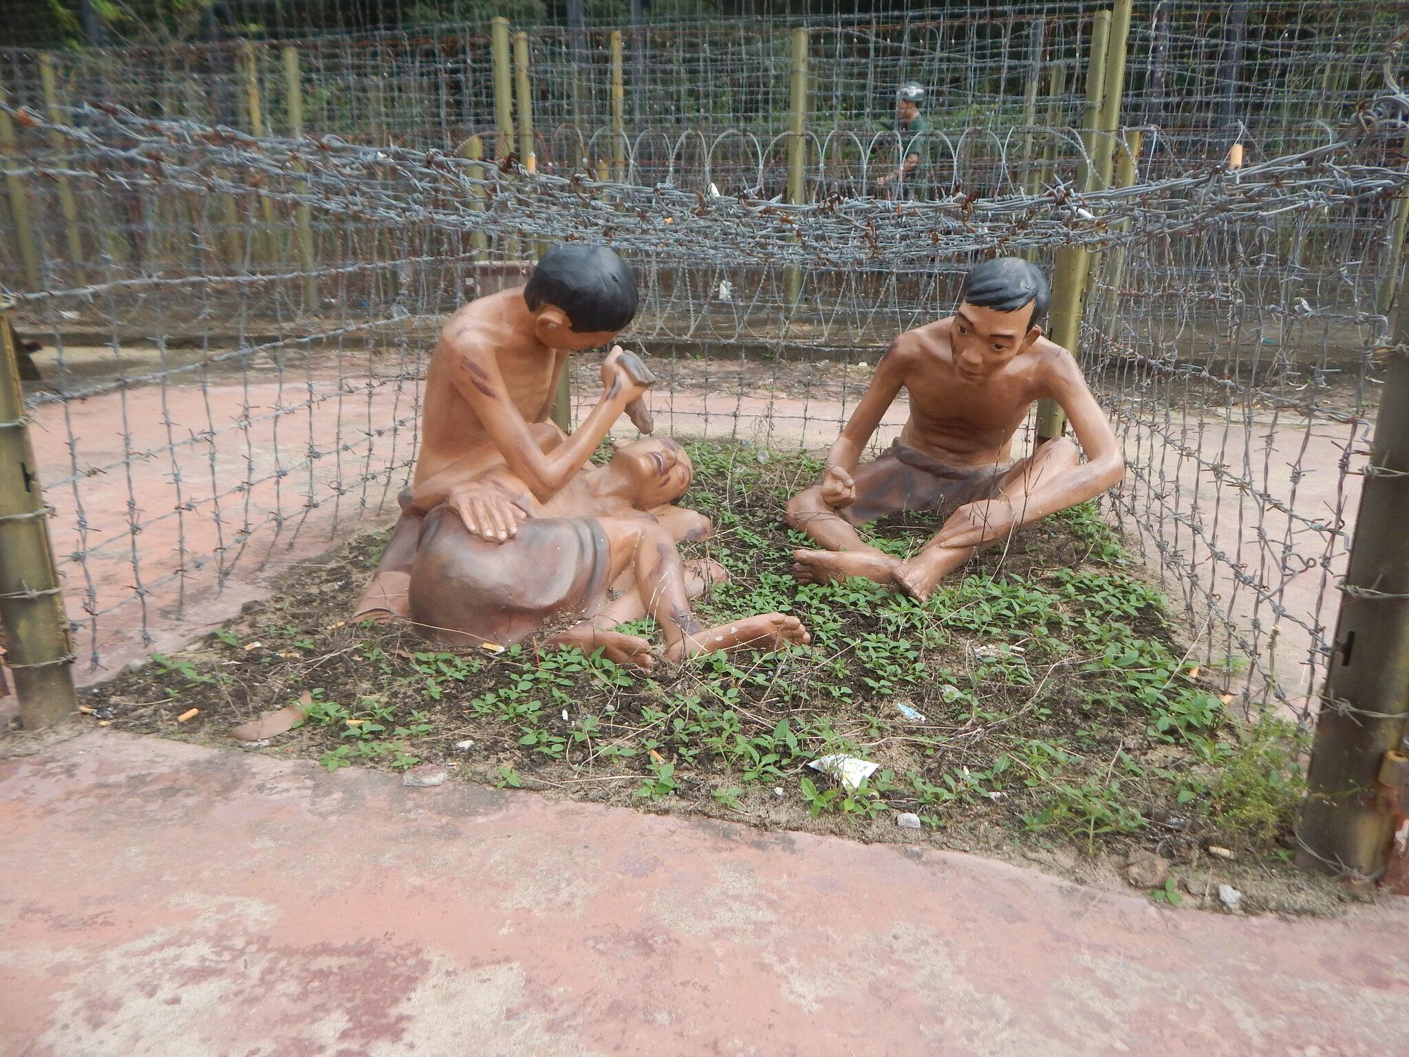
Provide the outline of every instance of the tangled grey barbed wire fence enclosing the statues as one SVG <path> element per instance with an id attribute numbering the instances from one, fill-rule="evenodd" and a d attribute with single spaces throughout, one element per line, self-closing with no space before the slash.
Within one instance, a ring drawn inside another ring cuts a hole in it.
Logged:
<path id="1" fill-rule="evenodd" d="M 586 73 L 535 31 L 535 172 L 473 28 L 0 56 L 3 266 L 42 344 L 35 445 L 87 678 L 392 513 L 440 321 L 547 244 L 638 269 L 662 428 L 810 448 L 975 259 L 1082 245 L 1084 364 L 1130 465 L 1109 509 L 1203 661 L 1305 720 L 1398 272 L 1402 113 L 1365 106 L 1395 8 L 1267 6 L 1229 106 L 1222 8 L 1147 6 L 1124 128 L 1098 141 L 1138 165 L 1079 193 L 1081 7 L 813 27 L 802 202 L 783 20 L 652 28 L 650 52 L 590 32 Z M 944 89 L 936 149 L 878 197 L 907 79 Z"/>

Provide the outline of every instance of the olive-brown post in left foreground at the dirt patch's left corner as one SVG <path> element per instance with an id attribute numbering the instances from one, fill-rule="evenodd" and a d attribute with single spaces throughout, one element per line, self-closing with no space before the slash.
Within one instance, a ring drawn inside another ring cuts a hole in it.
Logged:
<path id="1" fill-rule="evenodd" d="M 73 641 L 49 545 L 49 516 L 30 444 L 20 361 L 0 295 L 0 627 L 6 665 L 32 730 L 77 710 Z"/>

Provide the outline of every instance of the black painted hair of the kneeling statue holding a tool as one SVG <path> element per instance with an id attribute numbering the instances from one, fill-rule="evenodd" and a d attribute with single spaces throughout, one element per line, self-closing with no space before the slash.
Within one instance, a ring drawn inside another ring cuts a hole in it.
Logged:
<path id="1" fill-rule="evenodd" d="M 635 316 L 640 295 L 631 268 L 604 245 L 564 242 L 538 258 L 524 302 L 562 309 L 579 334 L 621 330 Z"/>

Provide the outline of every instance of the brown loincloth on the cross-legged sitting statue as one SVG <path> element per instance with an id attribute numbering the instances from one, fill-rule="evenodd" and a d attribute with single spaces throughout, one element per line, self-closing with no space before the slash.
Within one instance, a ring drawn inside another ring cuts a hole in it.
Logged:
<path id="1" fill-rule="evenodd" d="M 952 510 L 992 499 L 1014 461 L 979 469 L 955 469 L 896 441 L 874 462 L 851 471 L 857 502 L 840 513 L 851 524 L 865 524 L 899 510 Z"/>

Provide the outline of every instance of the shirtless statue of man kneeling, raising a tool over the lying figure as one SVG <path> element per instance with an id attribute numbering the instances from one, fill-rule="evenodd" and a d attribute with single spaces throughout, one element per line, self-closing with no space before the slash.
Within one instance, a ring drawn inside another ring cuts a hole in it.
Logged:
<path id="1" fill-rule="evenodd" d="M 637 300 L 635 278 L 620 256 L 602 245 L 569 242 L 542 255 L 527 286 L 458 309 L 441 328 L 426 372 L 413 482 L 486 445 L 538 499 L 572 481 L 621 412 L 645 392 L 619 364 L 620 350 L 602 365 L 602 399 L 566 443 L 545 452 L 530 426 L 552 412 L 568 355 L 612 341 L 635 316 Z M 355 619 L 406 614 L 406 569 L 418 531 L 420 521 L 397 521 Z"/>

